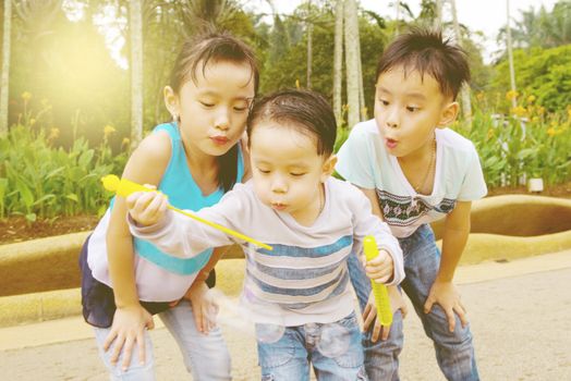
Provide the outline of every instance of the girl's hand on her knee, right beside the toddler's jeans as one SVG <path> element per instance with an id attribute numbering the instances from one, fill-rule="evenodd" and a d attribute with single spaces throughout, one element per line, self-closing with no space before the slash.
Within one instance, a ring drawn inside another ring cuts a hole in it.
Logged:
<path id="1" fill-rule="evenodd" d="M 208 334 L 210 330 L 216 328 L 218 303 L 204 281 L 194 282 L 183 299 L 189 300 L 192 305 L 194 322 L 198 332 Z"/>

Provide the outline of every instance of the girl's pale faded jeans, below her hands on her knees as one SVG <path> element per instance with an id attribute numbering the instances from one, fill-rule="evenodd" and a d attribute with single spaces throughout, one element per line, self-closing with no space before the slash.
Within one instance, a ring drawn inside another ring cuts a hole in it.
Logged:
<path id="1" fill-rule="evenodd" d="M 231 380 L 230 354 L 219 328 L 210 331 L 208 335 L 198 332 L 194 323 L 191 304 L 186 300 L 182 300 L 177 307 L 158 316 L 179 344 L 184 365 L 186 370 L 192 373 L 193 380 Z M 110 362 L 112 351 L 109 349 L 106 353 L 102 349 L 102 344 L 109 332 L 110 329 L 95 328 L 99 355 L 111 376 L 111 380 L 156 380 L 153 343 L 148 332 L 145 332 L 145 365 L 138 364 L 138 349 L 134 346 L 131 366 L 126 371 L 121 369 L 123 352 L 121 352 L 117 365 L 112 366 Z"/>

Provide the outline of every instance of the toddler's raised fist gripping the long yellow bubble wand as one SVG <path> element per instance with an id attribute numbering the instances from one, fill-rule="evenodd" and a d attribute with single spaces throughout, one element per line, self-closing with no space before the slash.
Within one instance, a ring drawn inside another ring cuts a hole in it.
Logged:
<path id="1" fill-rule="evenodd" d="M 165 217 L 168 205 L 167 197 L 158 192 L 135 192 L 126 198 L 131 218 L 142 226 L 159 222 Z"/>

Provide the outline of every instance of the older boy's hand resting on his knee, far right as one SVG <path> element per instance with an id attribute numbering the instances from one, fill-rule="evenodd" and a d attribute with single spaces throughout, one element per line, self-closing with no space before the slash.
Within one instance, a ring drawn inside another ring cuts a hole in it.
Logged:
<path id="1" fill-rule="evenodd" d="M 460 302 L 460 294 L 452 282 L 435 281 L 428 293 L 428 298 L 424 304 L 424 314 L 430 312 L 433 305 L 437 303 L 442 307 L 448 319 L 448 329 L 454 332 L 455 318 L 454 312 L 458 314 L 462 328 L 467 325 L 466 309 Z"/>

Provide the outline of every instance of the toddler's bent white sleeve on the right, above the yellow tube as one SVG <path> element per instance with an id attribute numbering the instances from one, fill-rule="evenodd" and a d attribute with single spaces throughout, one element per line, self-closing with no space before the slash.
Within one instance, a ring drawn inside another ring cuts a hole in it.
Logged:
<path id="1" fill-rule="evenodd" d="M 362 255 L 365 236 L 373 235 L 378 249 L 386 250 L 392 258 L 394 270 L 392 281 L 389 284 L 399 284 L 404 279 L 404 259 L 399 241 L 391 234 L 389 225 L 373 214 L 368 198 L 357 188 L 354 189 L 354 250 Z"/>

